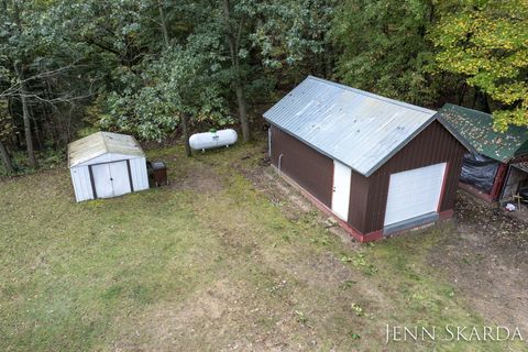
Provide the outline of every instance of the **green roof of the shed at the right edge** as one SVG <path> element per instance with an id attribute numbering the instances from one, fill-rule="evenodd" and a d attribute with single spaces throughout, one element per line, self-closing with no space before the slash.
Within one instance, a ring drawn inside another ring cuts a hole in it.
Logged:
<path id="1" fill-rule="evenodd" d="M 438 120 L 474 153 L 498 162 L 528 153 L 528 129 L 512 125 L 506 132 L 493 130 L 488 113 L 447 103 L 438 111 Z"/>

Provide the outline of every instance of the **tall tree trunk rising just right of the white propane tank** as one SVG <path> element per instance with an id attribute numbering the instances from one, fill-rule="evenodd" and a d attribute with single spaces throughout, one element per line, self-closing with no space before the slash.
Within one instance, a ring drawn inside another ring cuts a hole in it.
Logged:
<path id="1" fill-rule="evenodd" d="M 235 33 L 231 25 L 231 4 L 229 0 L 223 0 L 223 21 L 226 26 L 226 40 L 229 45 L 229 54 L 231 56 L 231 65 L 234 69 L 235 78 L 233 80 L 234 92 L 237 95 L 237 102 L 239 105 L 239 118 L 242 127 L 242 138 L 244 142 L 251 140 L 250 119 L 248 117 L 248 103 L 244 98 L 244 89 L 240 79 L 240 63 L 239 63 L 239 34 Z M 241 24 L 242 25 L 242 24 Z M 239 31 L 240 33 L 240 31 Z"/>

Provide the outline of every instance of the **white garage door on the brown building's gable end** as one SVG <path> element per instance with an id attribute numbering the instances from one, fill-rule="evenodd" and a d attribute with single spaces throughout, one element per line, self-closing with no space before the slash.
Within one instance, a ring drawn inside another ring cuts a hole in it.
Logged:
<path id="1" fill-rule="evenodd" d="M 446 163 L 391 175 L 385 227 L 438 211 Z"/>

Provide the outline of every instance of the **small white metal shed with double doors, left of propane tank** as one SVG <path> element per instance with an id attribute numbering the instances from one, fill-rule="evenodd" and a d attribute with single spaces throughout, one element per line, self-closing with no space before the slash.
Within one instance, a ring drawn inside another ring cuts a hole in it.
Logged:
<path id="1" fill-rule="evenodd" d="M 131 135 L 97 132 L 72 142 L 68 166 L 77 201 L 148 188 L 145 154 Z"/>

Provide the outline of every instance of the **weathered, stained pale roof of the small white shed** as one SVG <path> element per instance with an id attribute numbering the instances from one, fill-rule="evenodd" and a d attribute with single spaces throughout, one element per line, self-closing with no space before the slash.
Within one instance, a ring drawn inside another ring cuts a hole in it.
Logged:
<path id="1" fill-rule="evenodd" d="M 68 165 L 73 167 L 107 153 L 145 156 L 132 135 L 97 132 L 68 144 Z"/>

